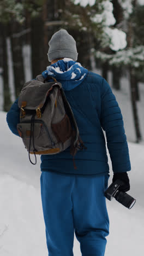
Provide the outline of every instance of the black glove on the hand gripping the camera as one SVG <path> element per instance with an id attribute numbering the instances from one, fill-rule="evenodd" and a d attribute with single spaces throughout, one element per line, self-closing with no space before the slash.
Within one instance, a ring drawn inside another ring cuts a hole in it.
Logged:
<path id="1" fill-rule="evenodd" d="M 119 191 L 126 192 L 130 190 L 129 177 L 127 172 L 117 172 L 113 174 L 112 182 L 115 182 L 117 179 L 120 179 L 124 182 L 124 185 L 119 187 Z"/>

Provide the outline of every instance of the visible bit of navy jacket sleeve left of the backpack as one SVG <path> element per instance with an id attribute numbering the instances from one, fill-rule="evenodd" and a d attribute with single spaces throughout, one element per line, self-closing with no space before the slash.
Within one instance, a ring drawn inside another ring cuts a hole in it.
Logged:
<path id="1" fill-rule="evenodd" d="M 18 99 L 19 97 L 16 99 L 16 101 L 13 103 L 13 105 L 11 106 L 9 112 L 7 113 L 7 123 L 9 126 L 9 129 L 17 136 L 20 137 L 19 132 L 17 131 L 17 124 L 20 123 L 20 108 L 18 106 Z"/>

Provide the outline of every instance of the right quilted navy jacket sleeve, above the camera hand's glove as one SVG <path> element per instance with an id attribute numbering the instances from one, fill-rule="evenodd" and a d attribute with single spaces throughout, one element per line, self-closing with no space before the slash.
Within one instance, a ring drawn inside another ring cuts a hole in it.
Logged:
<path id="1" fill-rule="evenodd" d="M 129 149 L 121 109 L 104 78 L 101 85 L 100 123 L 106 133 L 113 173 L 130 171 Z"/>

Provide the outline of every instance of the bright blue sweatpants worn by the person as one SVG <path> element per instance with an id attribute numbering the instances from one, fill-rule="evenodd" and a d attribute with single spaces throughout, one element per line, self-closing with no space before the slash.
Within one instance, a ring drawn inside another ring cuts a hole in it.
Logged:
<path id="1" fill-rule="evenodd" d="M 82 256 L 104 256 L 109 216 L 104 191 L 110 175 L 80 176 L 41 172 L 49 256 L 73 256 L 74 232 Z"/>

